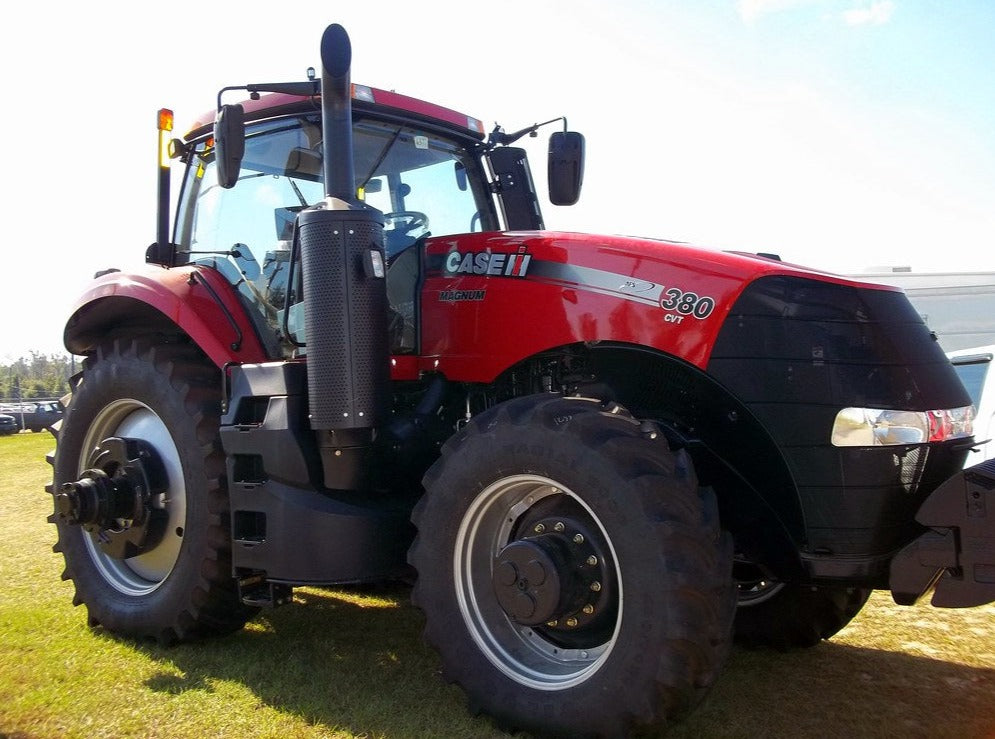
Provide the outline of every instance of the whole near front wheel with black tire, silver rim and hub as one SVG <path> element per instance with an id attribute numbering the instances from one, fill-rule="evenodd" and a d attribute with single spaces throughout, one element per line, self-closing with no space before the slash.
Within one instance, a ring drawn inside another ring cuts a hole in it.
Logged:
<path id="1" fill-rule="evenodd" d="M 620 735 L 704 696 L 731 641 L 731 541 L 652 425 L 588 399 L 513 400 L 450 440 L 425 486 L 413 597 L 472 708 Z"/>

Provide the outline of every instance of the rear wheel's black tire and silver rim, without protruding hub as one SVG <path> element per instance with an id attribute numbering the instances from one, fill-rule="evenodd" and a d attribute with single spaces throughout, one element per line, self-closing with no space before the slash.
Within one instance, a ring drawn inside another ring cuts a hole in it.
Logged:
<path id="1" fill-rule="evenodd" d="M 92 450 L 112 437 L 147 444 L 167 480 L 159 533 L 133 556 L 109 553 L 106 529 L 50 519 L 63 579 L 73 581 L 73 603 L 86 606 L 91 626 L 172 643 L 233 631 L 254 613 L 231 575 L 219 411 L 218 370 L 193 347 L 115 343 L 87 360 L 58 436 L 53 493 L 85 477 Z"/>

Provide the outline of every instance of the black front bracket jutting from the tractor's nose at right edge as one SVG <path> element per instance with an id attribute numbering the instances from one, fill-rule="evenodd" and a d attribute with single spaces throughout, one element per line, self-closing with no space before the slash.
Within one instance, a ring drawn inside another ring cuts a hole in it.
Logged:
<path id="1" fill-rule="evenodd" d="M 891 562 L 895 602 L 912 605 L 934 586 L 931 603 L 940 608 L 995 602 L 995 460 L 940 485 L 916 520 L 930 530 Z"/>

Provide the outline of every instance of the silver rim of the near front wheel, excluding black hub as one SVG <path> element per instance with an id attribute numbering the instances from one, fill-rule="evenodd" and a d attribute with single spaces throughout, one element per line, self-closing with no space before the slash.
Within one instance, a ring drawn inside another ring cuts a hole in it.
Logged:
<path id="1" fill-rule="evenodd" d="M 564 648 L 536 629 L 516 624 L 501 609 L 493 593 L 493 562 L 512 539 L 516 522 L 535 503 L 562 495 L 579 504 L 588 523 L 611 552 L 618 611 L 611 636 L 583 648 Z M 622 623 L 622 580 L 618 557 L 604 525 L 573 491 L 546 477 L 514 475 L 483 491 L 468 507 L 453 558 L 456 596 L 463 620 L 487 659 L 515 682 L 538 690 L 564 690 L 588 680 L 607 661 Z"/>

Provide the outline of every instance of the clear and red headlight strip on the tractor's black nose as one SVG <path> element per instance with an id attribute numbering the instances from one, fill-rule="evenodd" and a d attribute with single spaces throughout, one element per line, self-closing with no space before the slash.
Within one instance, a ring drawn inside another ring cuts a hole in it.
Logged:
<path id="1" fill-rule="evenodd" d="M 974 434 L 974 406 L 940 411 L 844 408 L 833 423 L 833 446 L 897 446 Z"/>

